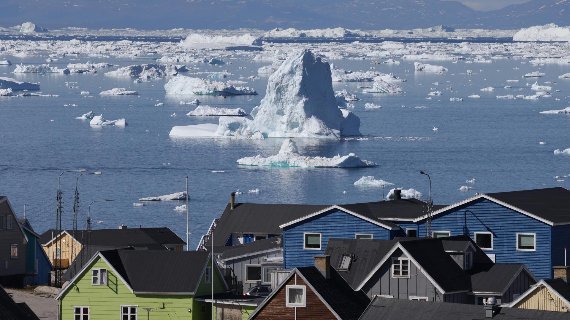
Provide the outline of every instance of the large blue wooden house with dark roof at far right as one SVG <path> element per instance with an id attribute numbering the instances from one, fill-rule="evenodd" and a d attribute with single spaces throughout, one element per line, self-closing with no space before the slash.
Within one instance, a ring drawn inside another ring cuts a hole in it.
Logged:
<path id="1" fill-rule="evenodd" d="M 414 219 L 426 236 L 426 216 Z M 570 190 L 556 187 L 475 195 L 435 210 L 432 236 L 467 234 L 495 262 L 524 263 L 552 278 L 570 247 Z"/>

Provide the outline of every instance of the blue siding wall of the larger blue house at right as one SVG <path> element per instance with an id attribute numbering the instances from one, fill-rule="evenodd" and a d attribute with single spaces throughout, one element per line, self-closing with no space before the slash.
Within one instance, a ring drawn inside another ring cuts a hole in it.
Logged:
<path id="1" fill-rule="evenodd" d="M 552 278 L 551 227 L 529 216 L 500 206 L 489 200 L 475 200 L 433 217 L 433 231 L 450 231 L 452 236 L 473 232 L 492 232 L 495 262 L 523 263 L 539 279 Z M 425 220 L 421 221 L 420 236 L 425 236 Z M 516 233 L 536 233 L 536 251 L 517 251 Z"/>

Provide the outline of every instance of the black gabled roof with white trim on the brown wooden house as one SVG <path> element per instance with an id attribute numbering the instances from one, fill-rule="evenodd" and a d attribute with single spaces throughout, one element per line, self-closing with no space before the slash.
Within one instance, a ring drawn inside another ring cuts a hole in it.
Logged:
<path id="1" fill-rule="evenodd" d="M 331 278 L 325 279 L 314 266 L 304 266 L 293 269 L 287 278 L 251 313 L 249 319 L 259 313 L 267 303 L 271 303 L 272 298 L 295 274 L 306 282 L 337 319 L 357 320 L 370 302 L 370 298 L 364 292 L 352 290 L 335 269 L 331 269 Z M 310 306 L 307 305 L 307 307 Z"/>

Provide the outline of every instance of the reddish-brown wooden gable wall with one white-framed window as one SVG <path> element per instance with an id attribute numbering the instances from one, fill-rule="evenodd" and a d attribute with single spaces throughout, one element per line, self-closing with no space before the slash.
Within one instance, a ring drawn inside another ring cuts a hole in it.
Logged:
<path id="1" fill-rule="evenodd" d="M 305 307 L 287 307 L 285 306 L 286 298 L 286 285 L 304 285 L 307 287 L 306 293 L 306 306 Z M 296 309 L 296 317 L 295 317 Z M 294 274 L 290 280 L 283 285 L 279 292 L 276 293 L 271 300 L 268 301 L 261 310 L 252 318 L 258 320 L 265 319 L 283 319 L 283 320 L 296 320 L 296 319 L 312 319 L 312 320 L 328 320 L 336 319 L 335 315 L 328 309 L 328 307 L 320 300 L 320 298 L 313 292 L 303 281 L 298 274 Z"/>

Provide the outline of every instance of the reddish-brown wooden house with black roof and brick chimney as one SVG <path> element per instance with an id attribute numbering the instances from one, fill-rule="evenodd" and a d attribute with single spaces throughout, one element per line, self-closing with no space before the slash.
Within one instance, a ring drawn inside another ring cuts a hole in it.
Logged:
<path id="1" fill-rule="evenodd" d="M 331 268 L 330 256 L 315 256 L 315 266 L 293 269 L 248 319 L 356 320 L 369 303 Z"/>

